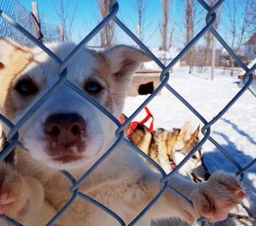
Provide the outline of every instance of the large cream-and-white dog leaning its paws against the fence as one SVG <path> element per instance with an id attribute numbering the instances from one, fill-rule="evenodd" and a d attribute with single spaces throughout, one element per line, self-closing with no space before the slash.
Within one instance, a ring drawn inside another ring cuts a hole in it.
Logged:
<path id="1" fill-rule="evenodd" d="M 73 43 L 49 44 L 61 59 L 74 47 Z M 148 61 L 147 55 L 127 46 L 101 53 L 83 48 L 68 63 L 67 79 L 118 118 L 131 75 L 143 61 Z M 0 41 L 0 62 L 0 109 L 15 123 L 58 81 L 59 67 L 41 49 L 22 47 L 9 39 Z M 16 148 L 14 166 L 0 164 L 0 213 L 26 226 L 47 223 L 72 195 L 72 184 L 59 170 L 79 179 L 117 140 L 116 129 L 107 116 L 62 84 L 20 129 L 20 142 L 28 151 Z M 79 192 L 108 206 L 128 224 L 158 194 L 160 178 L 121 142 Z M 225 172 L 213 174 L 206 183 L 175 176 L 169 184 L 192 200 L 194 208 L 168 189 L 137 225 L 148 226 L 151 219 L 161 217 L 180 217 L 189 223 L 207 217 L 215 222 L 246 197 L 239 180 Z M 56 225 L 119 223 L 77 198 Z"/>

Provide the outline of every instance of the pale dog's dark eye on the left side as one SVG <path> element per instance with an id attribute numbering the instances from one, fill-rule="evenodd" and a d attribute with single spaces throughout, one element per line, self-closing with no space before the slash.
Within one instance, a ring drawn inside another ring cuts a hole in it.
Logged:
<path id="1" fill-rule="evenodd" d="M 21 96 L 32 96 L 38 92 L 38 87 L 32 82 L 31 79 L 21 79 L 16 85 L 15 90 Z"/>

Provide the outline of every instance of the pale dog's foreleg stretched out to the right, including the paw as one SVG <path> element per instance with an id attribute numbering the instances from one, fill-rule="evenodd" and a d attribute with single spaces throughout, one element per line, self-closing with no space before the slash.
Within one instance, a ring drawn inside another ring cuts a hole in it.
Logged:
<path id="1" fill-rule="evenodd" d="M 189 223 L 195 223 L 199 217 L 207 217 L 211 223 L 218 222 L 224 220 L 230 210 L 246 197 L 239 180 L 221 171 L 214 173 L 206 183 L 193 183 L 174 176 L 169 184 L 186 195 L 194 208 L 168 190 L 151 209 L 152 217 L 180 217 Z M 151 188 L 156 187 L 152 184 Z"/>

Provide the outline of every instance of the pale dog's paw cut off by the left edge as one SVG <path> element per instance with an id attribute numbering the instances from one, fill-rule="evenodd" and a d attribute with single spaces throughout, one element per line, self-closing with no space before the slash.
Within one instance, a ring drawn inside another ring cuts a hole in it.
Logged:
<path id="1" fill-rule="evenodd" d="M 0 162 L 0 214 L 22 214 L 24 203 L 23 179 L 9 165 Z"/>

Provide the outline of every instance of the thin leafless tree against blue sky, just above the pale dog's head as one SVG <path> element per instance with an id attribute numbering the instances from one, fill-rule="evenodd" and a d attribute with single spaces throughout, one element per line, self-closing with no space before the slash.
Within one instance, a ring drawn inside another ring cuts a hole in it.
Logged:
<path id="1" fill-rule="evenodd" d="M 71 41 L 73 34 L 73 20 L 78 11 L 78 0 L 54 0 L 56 16 L 58 17 L 60 27 L 63 28 L 62 41 Z"/>

